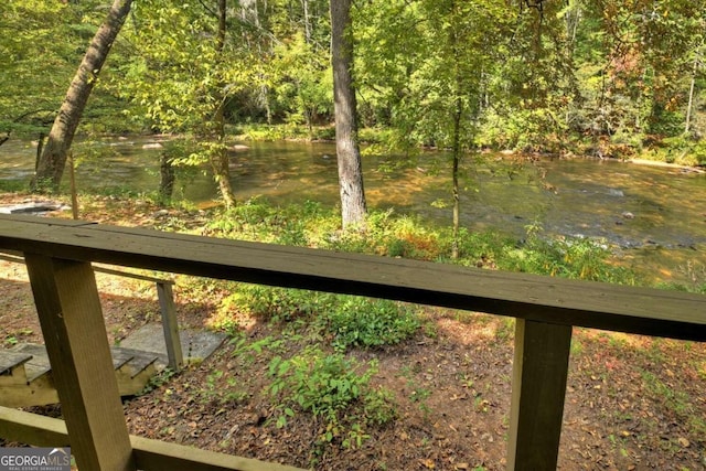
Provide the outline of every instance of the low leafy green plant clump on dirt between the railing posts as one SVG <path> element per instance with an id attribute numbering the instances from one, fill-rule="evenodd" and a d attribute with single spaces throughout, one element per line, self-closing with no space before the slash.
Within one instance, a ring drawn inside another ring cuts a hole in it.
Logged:
<path id="1" fill-rule="evenodd" d="M 321 420 L 321 445 L 360 447 L 372 427 L 383 426 L 395 416 L 391 394 L 371 385 L 376 372 L 375 362 L 364 366 L 319 347 L 308 347 L 290 358 L 274 357 L 268 389 L 280 404 L 277 426 L 286 427 L 297 410 L 309 413 Z"/>

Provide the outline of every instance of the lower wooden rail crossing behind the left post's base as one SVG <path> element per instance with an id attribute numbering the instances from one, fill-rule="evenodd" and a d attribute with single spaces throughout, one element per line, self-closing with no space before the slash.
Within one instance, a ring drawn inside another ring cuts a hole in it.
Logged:
<path id="1" fill-rule="evenodd" d="M 0 437 L 39 447 L 69 447 L 66 424 L 61 419 L 0 407 Z M 303 471 L 286 464 L 200 450 L 183 445 L 130 436 L 140 470 L 189 471 Z M 72 451 L 73 448 L 72 448 Z"/>

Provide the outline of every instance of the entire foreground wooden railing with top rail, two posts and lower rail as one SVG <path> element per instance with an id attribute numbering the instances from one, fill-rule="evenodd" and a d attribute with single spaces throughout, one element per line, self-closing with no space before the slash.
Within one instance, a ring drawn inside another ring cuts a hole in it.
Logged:
<path id="1" fill-rule="evenodd" d="M 63 437 L 83 470 L 287 469 L 128 435 L 93 261 L 516 318 L 509 470 L 556 468 L 574 325 L 706 341 L 706 297 L 683 292 L 31 216 L 0 215 L 2 249 L 24 254 L 67 431 L 0 409 L 0 437 Z"/>

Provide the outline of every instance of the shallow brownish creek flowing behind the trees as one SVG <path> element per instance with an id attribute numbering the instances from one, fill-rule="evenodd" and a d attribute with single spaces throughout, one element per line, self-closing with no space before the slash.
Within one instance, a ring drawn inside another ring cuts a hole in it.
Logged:
<path id="1" fill-rule="evenodd" d="M 159 184 L 159 138 L 78 142 L 78 190 L 153 192 Z M 255 142 L 231 154 L 236 197 L 275 204 L 339 201 L 332 143 Z M 0 146 L 0 179 L 29 181 L 35 148 Z M 706 175 L 675 167 L 612 160 L 484 154 L 468 157 L 461 179 L 461 222 L 517 238 L 531 225 L 547 236 L 606 240 L 622 263 L 653 280 L 706 282 Z M 364 157 L 365 193 L 374 208 L 450 224 L 450 161 L 443 152 L 414 158 Z M 67 178 L 64 179 L 68 181 Z M 217 199 L 206 170 L 181 171 L 178 199 L 201 206 Z"/>

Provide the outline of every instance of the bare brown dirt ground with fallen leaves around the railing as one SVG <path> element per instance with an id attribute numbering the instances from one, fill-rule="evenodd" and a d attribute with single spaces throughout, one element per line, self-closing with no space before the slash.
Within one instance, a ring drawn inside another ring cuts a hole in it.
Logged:
<path id="1" fill-rule="evenodd" d="M 0 195 L 0 204 L 26 196 Z M 164 213 L 147 203 L 94 201 L 82 218 L 152 226 Z M 58 215 L 69 217 L 69 214 Z M 168 217 L 197 214 L 172 212 Z M 153 286 L 97 275 L 106 333 L 118 342 L 157 320 Z M 180 291 L 182 325 L 207 328 L 221 293 Z M 211 295 L 210 295 L 211 296 Z M 130 433 L 318 470 L 503 470 L 510 409 L 513 321 L 428 310 L 405 344 L 354 351 L 376 358 L 376 384 L 394 394 L 396 418 L 360 448 L 314 447 L 320 424 L 306 414 L 286 427 L 264 387 L 271 353 L 246 364 L 234 344 L 124 402 Z M 243 335 L 281 335 L 258 321 Z M 0 263 L 0 341 L 41 342 L 23 266 Z M 33 411 L 60 415 L 61 408 Z M 0 440 L 0 446 L 2 441 Z M 706 344 L 575 329 L 559 464 L 561 470 L 706 470 Z"/>

